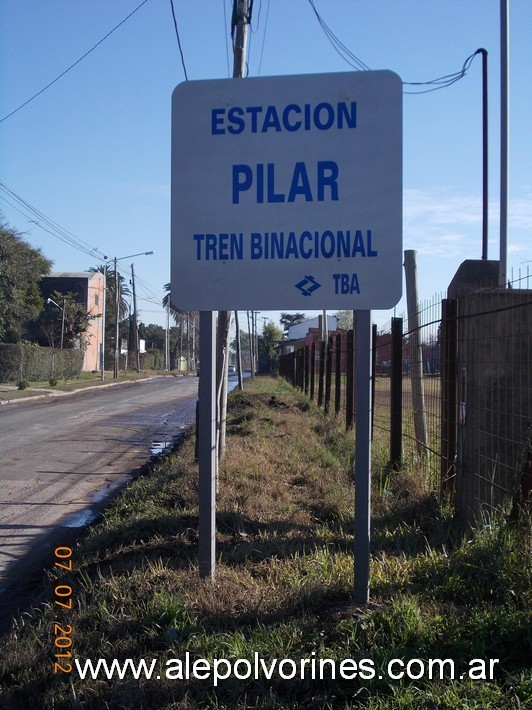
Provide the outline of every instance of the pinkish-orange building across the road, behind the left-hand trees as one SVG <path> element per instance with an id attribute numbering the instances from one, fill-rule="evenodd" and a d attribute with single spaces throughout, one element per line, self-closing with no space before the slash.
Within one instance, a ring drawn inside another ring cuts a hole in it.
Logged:
<path id="1" fill-rule="evenodd" d="M 52 272 L 41 280 L 41 292 L 46 300 L 51 297 L 54 291 L 75 294 L 76 302 L 87 309 L 90 316 L 89 327 L 82 335 L 78 347 L 85 353 L 83 370 L 89 372 L 99 370 L 104 339 L 105 284 L 103 274 L 91 271 Z"/>

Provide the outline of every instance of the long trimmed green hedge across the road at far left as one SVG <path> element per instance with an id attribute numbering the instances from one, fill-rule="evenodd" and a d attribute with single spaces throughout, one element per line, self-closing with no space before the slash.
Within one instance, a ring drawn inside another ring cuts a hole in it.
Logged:
<path id="1" fill-rule="evenodd" d="M 22 363 L 21 363 L 22 360 Z M 32 343 L 0 343 L 0 382 L 40 382 L 79 377 L 81 350 L 56 350 Z"/>

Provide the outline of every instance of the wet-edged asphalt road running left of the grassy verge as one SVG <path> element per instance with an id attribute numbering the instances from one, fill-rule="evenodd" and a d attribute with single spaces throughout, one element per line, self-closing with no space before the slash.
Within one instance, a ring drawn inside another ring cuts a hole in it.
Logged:
<path id="1" fill-rule="evenodd" d="M 197 389 L 196 377 L 157 378 L 0 409 L 0 616 L 50 541 L 194 421 Z"/>

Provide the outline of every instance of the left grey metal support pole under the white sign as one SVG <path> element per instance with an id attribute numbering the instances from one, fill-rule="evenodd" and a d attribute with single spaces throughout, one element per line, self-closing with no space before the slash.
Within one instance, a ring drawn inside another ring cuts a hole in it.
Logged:
<path id="1" fill-rule="evenodd" d="M 214 577 L 216 564 L 216 312 L 200 311 L 198 418 L 199 572 Z"/>

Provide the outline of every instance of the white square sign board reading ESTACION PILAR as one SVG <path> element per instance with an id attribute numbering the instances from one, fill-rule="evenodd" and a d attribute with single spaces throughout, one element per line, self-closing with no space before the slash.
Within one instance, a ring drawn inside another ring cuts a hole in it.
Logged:
<path id="1" fill-rule="evenodd" d="M 190 81 L 172 105 L 172 302 L 388 309 L 402 288 L 402 82 Z"/>

